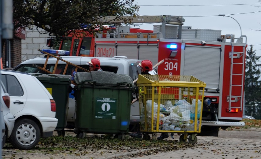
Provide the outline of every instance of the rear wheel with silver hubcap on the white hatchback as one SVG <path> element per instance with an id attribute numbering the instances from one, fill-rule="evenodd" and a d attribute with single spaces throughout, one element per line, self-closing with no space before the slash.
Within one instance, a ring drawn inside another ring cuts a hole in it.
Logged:
<path id="1" fill-rule="evenodd" d="M 14 124 L 9 140 L 13 147 L 20 150 L 34 148 L 40 140 L 40 128 L 31 119 L 21 119 Z"/>

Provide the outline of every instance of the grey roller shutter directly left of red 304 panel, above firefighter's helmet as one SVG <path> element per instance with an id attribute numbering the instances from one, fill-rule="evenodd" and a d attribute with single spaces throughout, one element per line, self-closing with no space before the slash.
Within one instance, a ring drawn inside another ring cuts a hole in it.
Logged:
<path id="1" fill-rule="evenodd" d="M 158 63 L 158 45 L 139 45 L 139 60 L 150 60 L 153 65 Z"/>

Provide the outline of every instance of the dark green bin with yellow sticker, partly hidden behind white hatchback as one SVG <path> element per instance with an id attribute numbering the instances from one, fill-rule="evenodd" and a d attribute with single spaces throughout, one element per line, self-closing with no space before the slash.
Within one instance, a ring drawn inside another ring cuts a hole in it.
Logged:
<path id="1" fill-rule="evenodd" d="M 69 93 L 71 91 L 71 76 L 59 74 L 31 74 L 35 76 L 44 87 L 50 92 L 55 100 L 56 114 L 58 119 L 56 126 L 57 134 L 59 136 L 65 135 L 64 128 L 67 124 Z"/>

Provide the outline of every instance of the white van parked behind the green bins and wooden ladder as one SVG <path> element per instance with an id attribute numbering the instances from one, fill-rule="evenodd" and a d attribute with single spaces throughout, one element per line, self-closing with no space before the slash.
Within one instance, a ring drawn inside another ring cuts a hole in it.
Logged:
<path id="1" fill-rule="evenodd" d="M 115 57 L 62 56 L 63 60 L 71 62 L 87 70 L 89 70 L 89 65 L 86 65 L 86 63 L 90 61 L 92 58 L 98 58 L 100 60 L 100 65 L 101 65 L 100 67 L 103 71 L 109 71 L 118 74 L 127 74 L 133 80 L 138 78 L 138 74 L 140 73 L 140 69 L 137 68 L 137 65 L 141 62 L 141 60 L 137 60 L 137 59 L 128 59 L 127 57 L 123 57 L 123 56 L 115 56 Z M 17 67 L 15 67 L 13 70 L 27 72 L 27 73 L 46 74 L 47 72 L 44 72 L 43 70 L 40 70 L 32 65 L 35 64 L 43 68 L 45 61 L 46 61 L 46 57 L 37 57 L 37 58 L 29 59 L 17 65 Z M 57 61 L 56 58 L 49 57 L 46 69 L 52 72 L 54 70 L 56 61 Z M 65 62 L 59 60 L 57 68 L 62 68 L 62 70 L 56 69 L 56 71 L 59 70 L 59 72 L 56 72 L 56 74 L 62 74 L 65 65 L 66 65 Z M 66 74 L 71 75 L 73 70 L 74 70 L 74 66 L 68 65 Z M 78 69 L 78 72 L 84 72 L 84 71 Z M 72 85 L 72 87 L 74 86 Z M 69 95 L 69 110 L 68 110 L 66 128 L 74 128 L 73 116 L 75 110 L 75 100 L 74 100 L 73 93 L 74 92 L 71 92 Z M 131 109 L 130 109 L 130 131 L 136 131 L 134 130 L 134 128 L 136 128 L 135 125 L 138 123 L 139 123 L 139 106 L 138 106 L 138 102 L 135 102 L 133 105 L 131 105 Z"/>

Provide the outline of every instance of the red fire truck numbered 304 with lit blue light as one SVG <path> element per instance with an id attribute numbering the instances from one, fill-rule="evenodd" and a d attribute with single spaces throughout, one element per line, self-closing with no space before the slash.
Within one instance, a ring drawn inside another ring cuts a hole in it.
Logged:
<path id="1" fill-rule="evenodd" d="M 144 18 L 143 22 L 151 21 L 150 18 Z M 119 27 L 106 36 L 103 33 L 95 38 L 83 37 L 82 42 L 78 39 L 78 44 L 68 49 L 64 41 L 60 50 L 73 49 L 74 56 L 88 52 L 94 57 L 121 55 L 149 59 L 153 64 L 164 60 L 158 66 L 158 74 L 190 75 L 206 83 L 199 135 L 217 136 L 220 127 L 244 126 L 240 121 L 244 104 L 246 36 L 241 35 L 234 42 L 234 35 L 221 35 L 221 30 L 183 27 L 181 16 L 164 18 L 158 21 L 153 18 L 152 22 L 162 22 L 154 25 L 153 32 L 131 32 L 128 27 Z M 87 41 L 88 47 L 84 45 Z"/>

